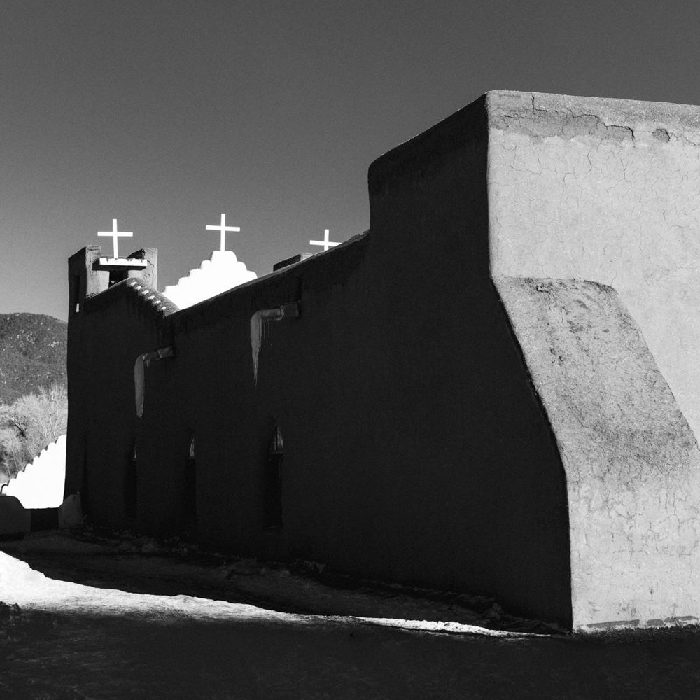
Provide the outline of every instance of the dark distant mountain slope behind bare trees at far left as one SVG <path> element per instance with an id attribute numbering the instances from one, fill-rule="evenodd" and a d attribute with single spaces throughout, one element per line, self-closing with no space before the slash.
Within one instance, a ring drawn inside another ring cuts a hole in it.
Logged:
<path id="1" fill-rule="evenodd" d="M 67 384 L 68 324 L 43 314 L 0 314 L 0 403 Z"/>

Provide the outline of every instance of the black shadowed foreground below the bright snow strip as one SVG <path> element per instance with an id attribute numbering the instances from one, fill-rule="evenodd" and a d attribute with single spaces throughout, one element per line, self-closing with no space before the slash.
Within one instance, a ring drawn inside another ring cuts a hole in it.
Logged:
<path id="1" fill-rule="evenodd" d="M 696 698 L 700 636 L 493 638 L 351 621 L 144 622 L 24 613 L 3 627 L 13 699 Z"/>

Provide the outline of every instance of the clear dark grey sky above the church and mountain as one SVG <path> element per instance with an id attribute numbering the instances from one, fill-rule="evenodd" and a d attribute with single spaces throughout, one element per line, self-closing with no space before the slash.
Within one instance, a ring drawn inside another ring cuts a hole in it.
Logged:
<path id="1" fill-rule="evenodd" d="M 0 0 L 0 312 L 98 230 L 159 287 L 369 225 L 367 167 L 487 90 L 700 104 L 697 0 Z M 318 250 L 316 248 L 315 250 Z"/>

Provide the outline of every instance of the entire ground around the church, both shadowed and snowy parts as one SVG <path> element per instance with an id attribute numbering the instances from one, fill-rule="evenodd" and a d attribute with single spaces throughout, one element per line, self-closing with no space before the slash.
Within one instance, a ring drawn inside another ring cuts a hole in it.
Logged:
<path id="1" fill-rule="evenodd" d="M 700 698 L 700 630 L 563 634 L 488 598 L 128 533 L 0 542 L 0 698 Z"/>

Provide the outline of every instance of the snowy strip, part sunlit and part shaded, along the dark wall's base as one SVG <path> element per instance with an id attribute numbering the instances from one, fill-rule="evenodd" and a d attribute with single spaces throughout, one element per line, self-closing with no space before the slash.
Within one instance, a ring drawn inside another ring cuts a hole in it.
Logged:
<path id="1" fill-rule="evenodd" d="M 465 604 L 430 601 L 398 586 L 383 591 L 369 582 L 351 589 L 333 587 L 292 573 L 281 564 L 261 564 L 255 559 L 230 562 L 221 554 L 200 555 L 191 545 L 159 545 L 149 537 L 89 538 L 54 531 L 4 543 L 6 551 L 0 552 L 0 600 L 27 609 L 68 611 L 74 607 L 83 614 L 144 619 L 181 615 L 293 624 L 330 624 L 344 619 L 358 624 L 488 636 L 557 631 L 542 623 L 507 618 L 496 603 L 486 598 L 474 598 L 476 602 L 487 601 L 482 605 L 485 609 L 474 610 Z M 203 560 L 204 556 L 208 559 Z M 20 561 L 22 557 L 29 561 L 38 557 L 36 561 L 45 564 L 45 570 L 73 581 L 79 578 L 83 583 L 47 577 Z M 313 562 L 300 564 L 302 570 L 312 573 L 323 569 L 323 565 Z M 79 577 L 76 570 L 80 571 Z M 174 595 L 152 595 L 148 590 Z M 264 601 L 264 607 L 251 605 L 251 601 Z"/>

